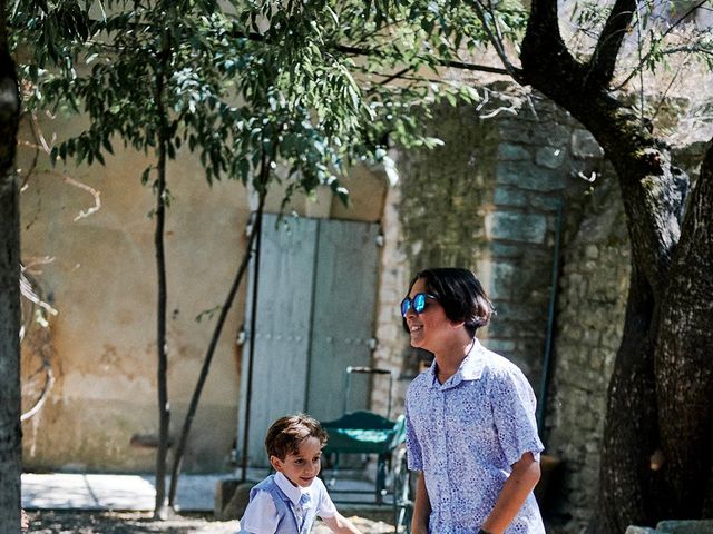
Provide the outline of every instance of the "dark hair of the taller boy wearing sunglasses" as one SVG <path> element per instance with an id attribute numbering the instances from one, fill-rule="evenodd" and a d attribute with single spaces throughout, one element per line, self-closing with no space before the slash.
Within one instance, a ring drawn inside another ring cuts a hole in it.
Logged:
<path id="1" fill-rule="evenodd" d="M 421 270 L 409 284 L 407 295 L 420 278 L 426 283 L 426 291 L 443 307 L 446 317 L 453 323 L 463 322 L 470 337 L 475 337 L 476 330 L 490 320 L 492 303 L 471 270 L 458 267 Z M 409 330 L 406 318 L 403 328 Z"/>

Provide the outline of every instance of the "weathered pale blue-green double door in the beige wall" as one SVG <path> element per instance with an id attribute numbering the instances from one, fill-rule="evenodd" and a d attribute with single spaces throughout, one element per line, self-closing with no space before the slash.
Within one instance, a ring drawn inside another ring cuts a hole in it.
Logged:
<path id="1" fill-rule="evenodd" d="M 264 437 L 277 417 L 307 412 L 339 417 L 344 369 L 370 365 L 379 226 L 265 215 L 257 289 L 257 326 L 250 411 L 248 464 L 266 466 Z M 250 325 L 252 286 L 246 299 Z M 247 355 L 243 349 L 240 428 L 243 441 Z M 369 384 L 355 375 L 348 408 L 368 406 Z"/>

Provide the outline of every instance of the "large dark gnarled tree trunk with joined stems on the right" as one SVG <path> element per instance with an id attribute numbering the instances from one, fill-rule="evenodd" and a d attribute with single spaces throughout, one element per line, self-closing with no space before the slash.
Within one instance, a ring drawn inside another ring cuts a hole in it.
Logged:
<path id="1" fill-rule="evenodd" d="M 616 2 L 584 65 L 559 36 L 556 1 L 535 0 L 521 47 L 520 81 L 597 139 L 616 169 L 627 217 L 632 284 L 608 389 L 593 524 L 606 534 L 666 517 L 701 517 L 713 505 L 711 168 L 704 168 L 681 229 L 687 177 L 608 91 L 635 9 L 631 0 Z"/>

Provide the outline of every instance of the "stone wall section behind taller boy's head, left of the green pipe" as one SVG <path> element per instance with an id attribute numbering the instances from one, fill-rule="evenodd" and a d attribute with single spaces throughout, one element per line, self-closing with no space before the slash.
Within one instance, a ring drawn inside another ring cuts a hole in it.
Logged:
<path id="1" fill-rule="evenodd" d="M 502 88 L 497 88 L 501 90 Z M 479 333 L 539 388 L 547 334 L 557 208 L 578 175 L 598 168 L 590 136 L 547 101 L 500 92 L 494 108 L 439 108 L 432 151 L 401 154 L 385 202 L 375 360 L 402 373 L 398 395 L 427 355 L 410 349 L 398 304 L 411 276 L 431 266 L 473 269 L 497 315 Z M 385 392 L 374 385 L 374 406 Z"/>

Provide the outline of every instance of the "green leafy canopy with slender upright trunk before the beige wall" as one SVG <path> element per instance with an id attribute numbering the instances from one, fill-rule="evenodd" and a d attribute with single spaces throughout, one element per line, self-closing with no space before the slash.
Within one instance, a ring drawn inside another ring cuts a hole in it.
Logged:
<path id="1" fill-rule="evenodd" d="M 187 147 L 197 152 L 208 182 L 237 178 L 264 198 L 271 181 L 281 179 L 286 182 L 285 200 L 295 190 L 310 194 L 325 185 L 345 201 L 348 191 L 339 178 L 350 165 L 388 161 L 387 132 L 404 145 L 432 146 L 434 140 L 418 134 L 417 108 L 428 116 L 424 105 L 433 93 L 455 102 L 451 92 L 433 91 L 437 86 L 422 77 L 389 93 L 379 85 L 365 88 L 354 70 L 369 73 L 370 62 L 358 67 L 353 52 L 330 51 L 341 36 L 339 17 L 334 6 L 322 2 L 209 0 L 19 0 L 11 13 L 27 108 L 88 119 L 86 129 L 52 147 L 51 158 L 105 165 L 119 142 L 154 159 L 141 181 L 152 181 L 156 196 L 157 516 L 166 515 L 170 416 L 164 253 L 170 201 L 167 160 Z M 370 31 L 385 31 L 383 21 L 375 20 Z M 413 36 L 406 32 L 395 41 L 408 49 Z M 392 67 L 401 50 L 385 47 L 375 65 Z M 453 92 L 466 99 L 473 96 L 468 89 Z M 287 171 L 274 172 L 277 164 Z M 212 348 L 206 362 L 211 356 Z"/>

